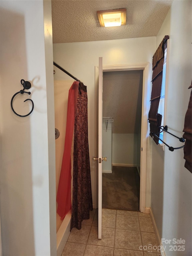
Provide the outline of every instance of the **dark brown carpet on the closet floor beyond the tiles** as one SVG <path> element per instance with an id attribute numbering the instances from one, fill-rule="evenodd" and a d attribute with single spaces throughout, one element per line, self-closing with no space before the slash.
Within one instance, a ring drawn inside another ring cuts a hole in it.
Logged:
<path id="1" fill-rule="evenodd" d="M 136 167 L 113 166 L 103 173 L 102 208 L 139 211 L 140 176 Z"/>

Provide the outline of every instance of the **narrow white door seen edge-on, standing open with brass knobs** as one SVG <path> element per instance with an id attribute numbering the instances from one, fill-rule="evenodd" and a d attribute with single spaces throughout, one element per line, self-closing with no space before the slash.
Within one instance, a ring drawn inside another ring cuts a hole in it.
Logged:
<path id="1" fill-rule="evenodd" d="M 103 63 L 99 57 L 99 92 L 98 92 L 98 239 L 102 233 L 102 119 L 103 119 Z"/>

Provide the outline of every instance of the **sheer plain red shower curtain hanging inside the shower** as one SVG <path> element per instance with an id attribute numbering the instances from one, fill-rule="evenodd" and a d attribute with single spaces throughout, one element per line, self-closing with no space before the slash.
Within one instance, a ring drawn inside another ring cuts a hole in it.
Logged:
<path id="1" fill-rule="evenodd" d="M 67 125 L 65 134 L 65 145 L 61 173 L 57 191 L 57 213 L 64 219 L 67 212 L 71 209 L 71 146 L 74 131 L 74 118 L 77 103 L 79 82 L 75 81 L 69 89 L 67 106 Z"/>

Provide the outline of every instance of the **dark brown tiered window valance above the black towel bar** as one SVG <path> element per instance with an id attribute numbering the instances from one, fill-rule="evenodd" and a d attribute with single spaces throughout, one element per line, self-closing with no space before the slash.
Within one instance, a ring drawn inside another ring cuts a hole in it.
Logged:
<path id="1" fill-rule="evenodd" d="M 149 123 L 150 123 L 150 136 L 153 137 L 152 133 L 159 133 L 161 126 L 162 116 L 158 114 L 159 101 L 161 97 L 161 84 L 163 77 L 163 63 L 164 63 L 164 50 L 165 43 L 169 39 L 166 35 L 162 40 L 161 44 L 158 46 L 155 54 L 153 55 L 152 62 L 152 92 L 151 92 L 151 107 L 149 110 Z M 159 134 L 157 134 L 159 136 Z M 155 136 L 154 141 L 158 144 L 159 139 Z"/>

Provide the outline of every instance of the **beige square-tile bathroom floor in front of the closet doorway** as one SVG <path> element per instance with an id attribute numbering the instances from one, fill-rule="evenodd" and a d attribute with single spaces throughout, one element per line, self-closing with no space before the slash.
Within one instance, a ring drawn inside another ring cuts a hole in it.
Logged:
<path id="1" fill-rule="evenodd" d="M 71 230 L 62 256 L 161 256 L 157 250 L 140 250 L 149 244 L 158 246 L 149 214 L 103 209 L 102 239 L 98 239 L 98 212 L 94 210 L 89 220 L 82 221 L 81 230 Z"/>

